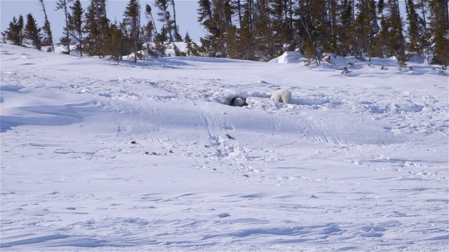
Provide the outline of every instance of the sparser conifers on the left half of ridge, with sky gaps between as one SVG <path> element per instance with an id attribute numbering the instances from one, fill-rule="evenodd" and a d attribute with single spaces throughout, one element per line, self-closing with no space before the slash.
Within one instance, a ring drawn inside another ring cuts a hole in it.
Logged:
<path id="1" fill-rule="evenodd" d="M 43 0 L 39 1 L 45 13 Z M 128 2 L 123 11 L 123 20 L 120 21 L 107 18 L 106 0 L 91 0 L 86 9 L 83 9 L 80 0 L 58 0 L 56 10 L 62 10 L 65 17 L 60 43 L 65 45 L 67 54 L 75 50 L 81 56 L 109 56 L 117 60 L 123 55 L 133 55 L 135 61 L 142 59 L 143 55 L 164 57 L 170 47 L 177 56 L 200 55 L 199 46 L 188 33 L 184 37 L 187 52 L 179 50 L 174 43 L 183 41 L 175 21 L 175 1 L 156 0 L 154 7 L 157 9 L 158 20 L 163 23 L 160 31 L 156 30 L 152 6 L 148 4 L 145 6 L 146 22 L 142 22 L 138 0 Z M 45 24 L 39 27 L 32 13 L 26 17 L 25 26 L 22 15 L 13 18 L 8 29 L 2 32 L 4 41 L 20 46 L 32 45 L 38 50 L 51 45 L 48 51 L 54 52 L 48 19 L 45 18 Z"/>

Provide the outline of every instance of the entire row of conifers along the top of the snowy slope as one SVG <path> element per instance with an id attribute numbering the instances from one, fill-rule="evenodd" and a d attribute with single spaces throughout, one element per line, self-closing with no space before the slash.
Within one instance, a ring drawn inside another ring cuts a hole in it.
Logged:
<path id="1" fill-rule="evenodd" d="M 159 31 L 152 7 L 162 24 Z M 401 64 L 425 56 L 431 63 L 449 64 L 448 0 L 405 0 L 405 6 L 398 0 L 199 0 L 197 21 L 206 30 L 199 45 L 188 33 L 179 34 L 174 0 L 147 4 L 145 21 L 140 8 L 140 1 L 129 0 L 123 20 L 111 21 L 105 0 L 91 0 L 86 10 L 79 0 L 58 0 L 57 9 L 65 13 L 60 42 L 67 53 L 75 45 L 80 55 L 121 59 L 131 54 L 135 61 L 144 54 L 164 57 L 171 47 L 175 55 L 259 61 L 295 50 L 317 64 L 326 54 L 361 60 L 394 56 Z M 15 45 L 25 39 L 38 49 L 53 46 L 47 18 L 39 28 L 30 13 L 23 24 L 22 15 L 13 18 L 4 38 Z M 185 51 L 174 43 L 183 40 Z"/>

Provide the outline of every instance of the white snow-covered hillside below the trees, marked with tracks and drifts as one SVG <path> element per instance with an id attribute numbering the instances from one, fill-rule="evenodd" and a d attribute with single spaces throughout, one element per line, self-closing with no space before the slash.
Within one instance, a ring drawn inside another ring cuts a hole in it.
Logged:
<path id="1" fill-rule="evenodd" d="M 448 250 L 438 68 L 0 48 L 1 251 Z"/>

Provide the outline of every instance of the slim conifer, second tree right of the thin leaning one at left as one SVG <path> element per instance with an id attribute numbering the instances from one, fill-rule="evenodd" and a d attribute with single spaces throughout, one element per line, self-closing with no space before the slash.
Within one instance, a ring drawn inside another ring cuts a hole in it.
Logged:
<path id="1" fill-rule="evenodd" d="M 72 14 L 68 15 L 69 25 L 68 30 L 72 39 L 76 43 L 76 50 L 79 52 L 81 57 L 83 56 L 83 7 L 81 6 L 81 1 L 76 0 L 74 5 L 70 7 Z"/>

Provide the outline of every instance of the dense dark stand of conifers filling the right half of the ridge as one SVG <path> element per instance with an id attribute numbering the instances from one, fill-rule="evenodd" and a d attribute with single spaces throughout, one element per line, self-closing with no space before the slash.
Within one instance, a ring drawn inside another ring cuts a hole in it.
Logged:
<path id="1" fill-rule="evenodd" d="M 449 64 L 448 0 L 200 0 L 210 57 L 267 60 L 286 50 L 319 63 L 324 53 L 360 59 L 432 55 Z M 406 24 L 405 24 L 406 23 Z M 406 27 L 406 29 L 405 29 Z"/>

